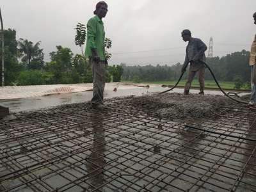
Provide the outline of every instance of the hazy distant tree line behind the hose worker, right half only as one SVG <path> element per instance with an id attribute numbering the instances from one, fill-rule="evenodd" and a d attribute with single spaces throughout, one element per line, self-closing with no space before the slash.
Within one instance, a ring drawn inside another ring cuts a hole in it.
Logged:
<path id="1" fill-rule="evenodd" d="M 230 81 L 241 86 L 250 87 L 250 52 L 242 50 L 233 52 L 223 57 L 207 58 L 207 64 L 213 70 L 218 81 Z M 154 81 L 175 81 L 179 79 L 182 64 L 175 65 L 146 65 L 127 66 L 122 64 L 124 73 L 123 81 L 133 81 L 134 83 L 154 82 Z M 187 70 L 188 73 L 188 70 Z M 183 76 L 186 79 L 186 74 Z M 209 70 L 205 70 L 205 79 L 212 80 Z"/>

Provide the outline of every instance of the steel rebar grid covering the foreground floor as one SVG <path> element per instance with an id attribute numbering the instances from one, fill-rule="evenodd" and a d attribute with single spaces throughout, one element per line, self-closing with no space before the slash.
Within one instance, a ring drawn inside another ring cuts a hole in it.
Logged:
<path id="1" fill-rule="evenodd" d="M 125 98 L 0 120 L 0 191 L 256 191 L 256 111 L 154 111 Z"/>

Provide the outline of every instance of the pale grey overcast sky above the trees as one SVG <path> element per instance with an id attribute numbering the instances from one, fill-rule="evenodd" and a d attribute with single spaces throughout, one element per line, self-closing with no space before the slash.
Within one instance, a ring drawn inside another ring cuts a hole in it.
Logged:
<path id="1" fill-rule="evenodd" d="M 17 30 L 17 39 L 42 41 L 45 60 L 56 45 L 74 53 L 77 22 L 93 17 L 95 0 L 0 0 L 4 28 Z M 103 19 L 106 37 L 113 40 L 109 63 L 172 65 L 184 62 L 182 29 L 207 46 L 213 37 L 214 56 L 250 50 L 256 33 L 255 0 L 108 0 Z M 207 52 L 206 52 L 207 54 Z"/>

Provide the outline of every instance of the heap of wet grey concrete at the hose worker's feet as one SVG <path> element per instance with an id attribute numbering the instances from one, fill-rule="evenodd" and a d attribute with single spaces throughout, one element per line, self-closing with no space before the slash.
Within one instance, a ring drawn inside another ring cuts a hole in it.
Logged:
<path id="1" fill-rule="evenodd" d="M 155 115 L 164 118 L 212 117 L 220 111 L 220 108 L 237 104 L 221 95 L 181 93 L 134 97 L 131 102 L 142 108 L 155 109 Z"/>

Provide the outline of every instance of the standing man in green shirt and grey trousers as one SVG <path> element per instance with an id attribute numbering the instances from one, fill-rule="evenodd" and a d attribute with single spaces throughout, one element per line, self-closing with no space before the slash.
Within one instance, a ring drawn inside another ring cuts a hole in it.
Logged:
<path id="1" fill-rule="evenodd" d="M 103 93 L 105 88 L 105 72 L 108 65 L 105 58 L 105 31 L 102 18 L 106 17 L 108 12 L 108 4 L 100 1 L 96 4 L 94 17 L 87 23 L 87 41 L 85 48 L 85 56 L 90 59 L 93 72 L 93 98 L 92 106 L 102 108 Z"/>

